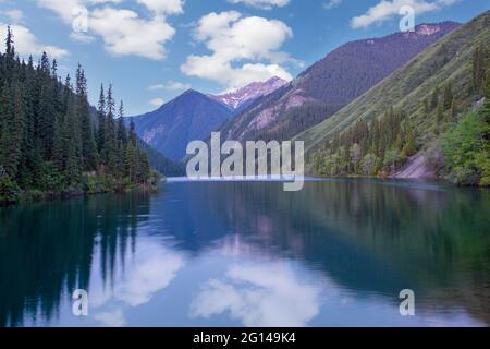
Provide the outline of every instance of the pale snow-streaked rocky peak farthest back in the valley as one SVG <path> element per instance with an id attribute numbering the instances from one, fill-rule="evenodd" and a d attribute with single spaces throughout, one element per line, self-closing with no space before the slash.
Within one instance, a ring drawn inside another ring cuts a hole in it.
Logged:
<path id="1" fill-rule="evenodd" d="M 244 110 L 259 97 L 270 95 L 275 89 L 286 85 L 287 82 L 281 77 L 271 77 L 266 82 L 254 82 L 245 87 L 238 88 L 224 95 L 209 95 L 210 98 L 229 106 L 235 111 Z"/>

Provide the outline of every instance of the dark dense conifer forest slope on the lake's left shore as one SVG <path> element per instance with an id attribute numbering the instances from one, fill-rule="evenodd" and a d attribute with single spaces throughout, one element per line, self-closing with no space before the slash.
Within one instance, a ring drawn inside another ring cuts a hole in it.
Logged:
<path id="1" fill-rule="evenodd" d="M 0 203 L 148 186 L 151 176 L 134 124 L 126 130 L 112 86 L 100 91 L 97 122 L 87 81 L 61 82 L 57 62 L 21 60 L 9 28 L 0 55 Z M 96 127 L 97 124 L 97 127 Z"/>

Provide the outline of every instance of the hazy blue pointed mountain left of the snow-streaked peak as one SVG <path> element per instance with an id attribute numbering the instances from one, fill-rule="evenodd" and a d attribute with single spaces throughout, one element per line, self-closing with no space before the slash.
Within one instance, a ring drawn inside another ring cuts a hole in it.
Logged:
<path id="1" fill-rule="evenodd" d="M 155 111 L 133 117 L 136 133 L 151 147 L 176 161 L 191 141 L 204 140 L 233 118 L 233 110 L 193 89 Z"/>

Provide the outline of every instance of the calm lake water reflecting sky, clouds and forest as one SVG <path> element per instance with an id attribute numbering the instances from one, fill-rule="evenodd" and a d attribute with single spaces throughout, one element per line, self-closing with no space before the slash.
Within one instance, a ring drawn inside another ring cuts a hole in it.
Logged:
<path id="1" fill-rule="evenodd" d="M 489 191 L 359 180 L 1 208 L 0 326 L 488 326 L 489 227 Z"/>

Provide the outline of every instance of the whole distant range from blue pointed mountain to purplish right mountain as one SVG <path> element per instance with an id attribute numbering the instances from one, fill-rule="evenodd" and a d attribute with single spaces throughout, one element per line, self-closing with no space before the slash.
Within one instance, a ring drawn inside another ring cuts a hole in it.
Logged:
<path id="1" fill-rule="evenodd" d="M 220 130 L 228 140 L 286 140 L 334 115 L 458 27 L 443 22 L 415 32 L 347 43 L 291 83 L 279 77 L 223 95 L 186 91 L 155 111 L 136 116 L 136 132 L 172 160 L 188 142 Z M 387 92 L 389 93 L 389 92 Z"/>

